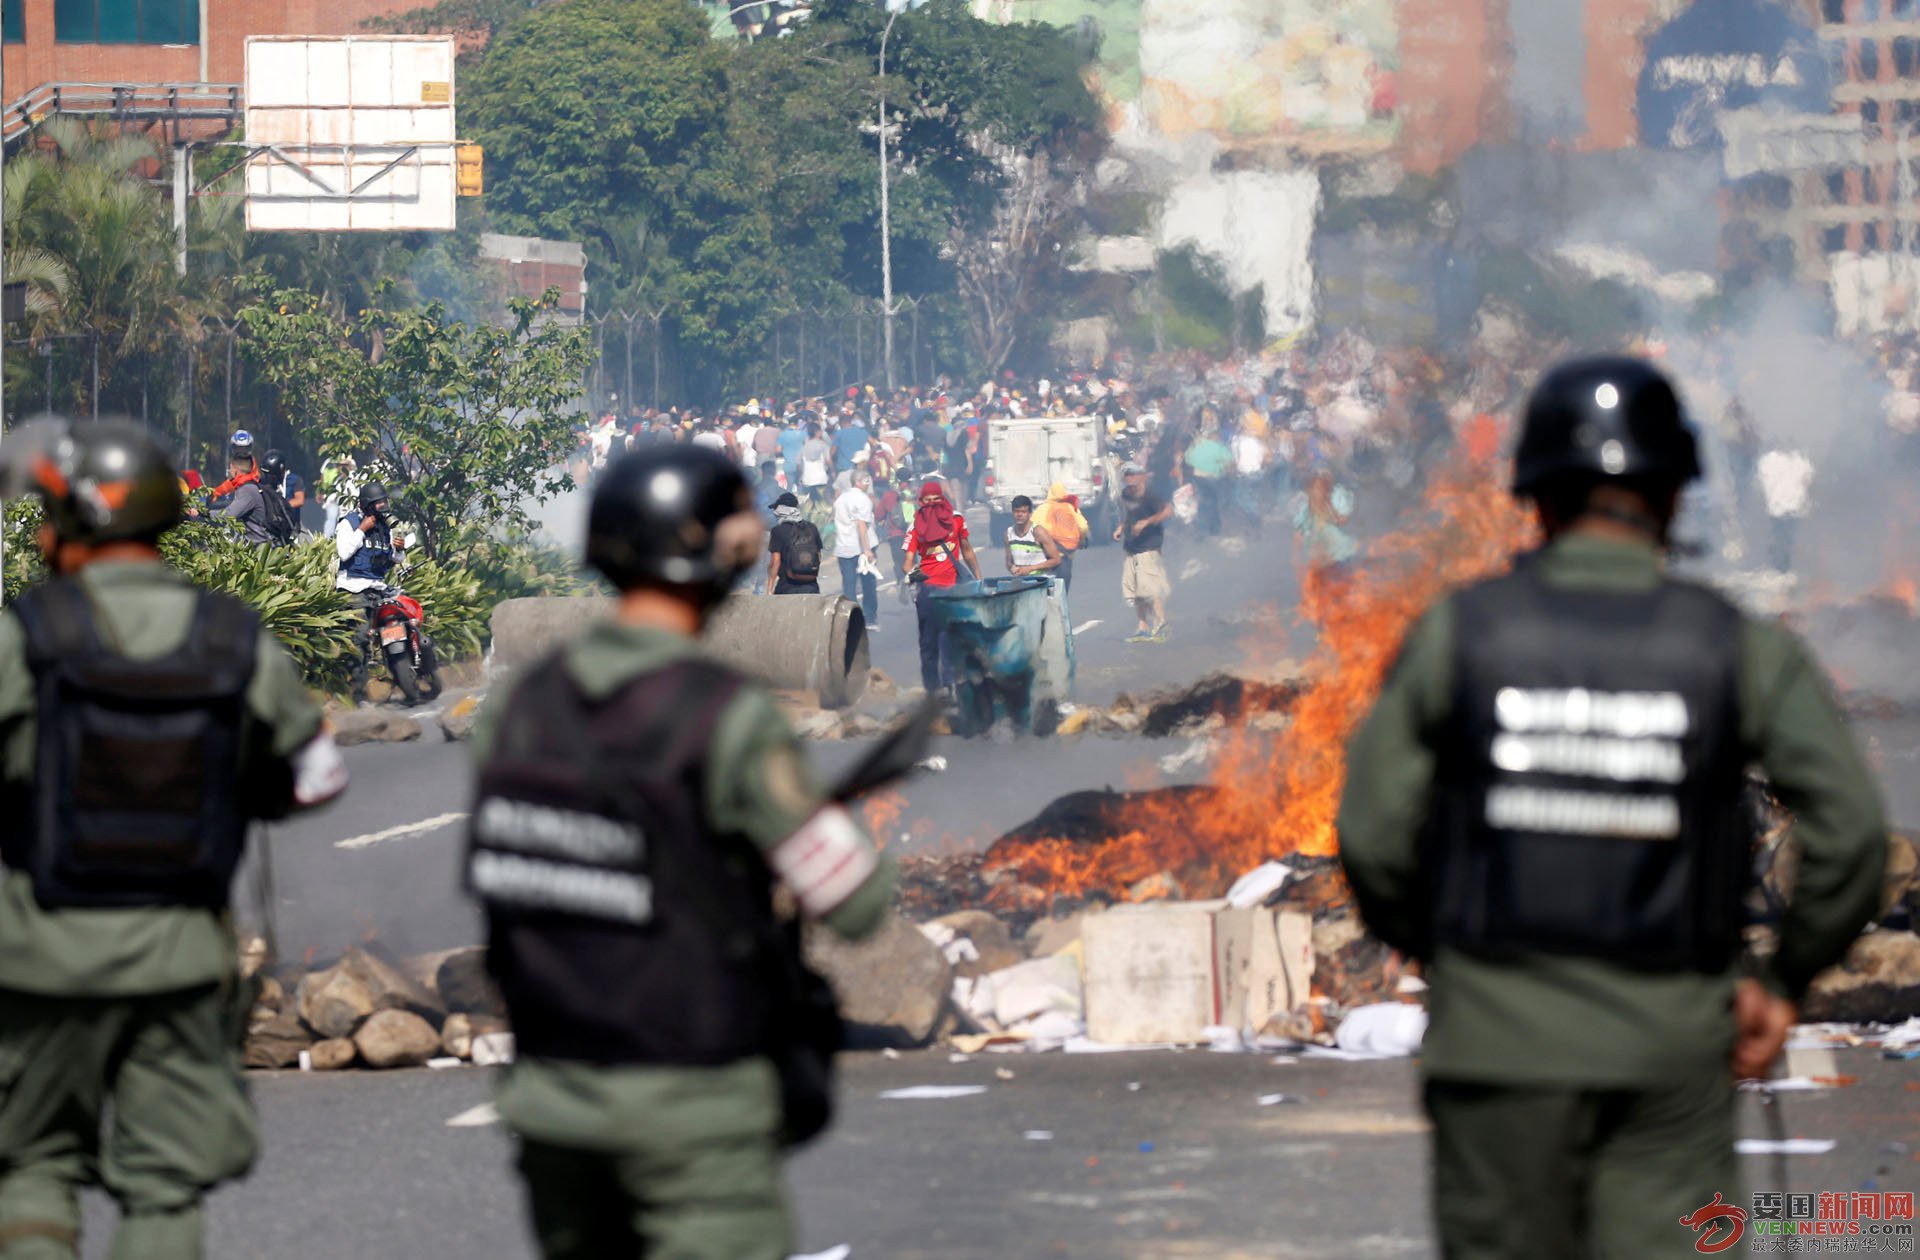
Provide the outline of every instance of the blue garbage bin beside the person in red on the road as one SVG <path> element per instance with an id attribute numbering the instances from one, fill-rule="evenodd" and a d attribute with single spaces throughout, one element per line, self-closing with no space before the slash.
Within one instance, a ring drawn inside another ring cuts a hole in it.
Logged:
<path id="1" fill-rule="evenodd" d="M 1052 578 L 985 578 L 933 592 L 941 649 L 954 680 L 954 734 L 1006 718 L 1033 730 L 1035 709 L 1064 701 L 1071 630 Z"/>

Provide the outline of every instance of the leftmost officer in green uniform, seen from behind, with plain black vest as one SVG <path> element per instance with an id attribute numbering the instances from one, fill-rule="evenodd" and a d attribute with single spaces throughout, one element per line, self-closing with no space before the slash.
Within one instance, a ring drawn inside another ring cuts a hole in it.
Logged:
<path id="1" fill-rule="evenodd" d="M 179 476 L 146 430 L 8 434 L 52 580 L 0 618 L 0 1256 L 71 1258 L 75 1187 L 115 1260 L 200 1254 L 255 1151 L 227 895 L 252 818 L 346 766 L 259 618 L 159 559 Z M 102 1141 L 102 1120 L 111 1124 Z"/>

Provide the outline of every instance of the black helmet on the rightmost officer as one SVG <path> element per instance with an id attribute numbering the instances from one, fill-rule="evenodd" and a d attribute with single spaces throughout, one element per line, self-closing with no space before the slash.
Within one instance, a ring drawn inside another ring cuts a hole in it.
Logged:
<path id="1" fill-rule="evenodd" d="M 1699 476 L 1693 426 L 1672 384 L 1644 359 L 1569 359 L 1526 400 L 1513 492 L 1563 478 L 1684 486 Z"/>

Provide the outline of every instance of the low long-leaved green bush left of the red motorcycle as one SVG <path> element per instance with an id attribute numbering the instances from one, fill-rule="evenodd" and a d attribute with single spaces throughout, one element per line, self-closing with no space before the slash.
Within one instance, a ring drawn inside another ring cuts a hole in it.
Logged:
<path id="1" fill-rule="evenodd" d="M 334 590 L 330 540 L 261 547 L 227 521 L 188 521 L 169 530 L 159 549 L 194 586 L 252 605 L 307 686 L 346 691 L 361 611 Z"/>

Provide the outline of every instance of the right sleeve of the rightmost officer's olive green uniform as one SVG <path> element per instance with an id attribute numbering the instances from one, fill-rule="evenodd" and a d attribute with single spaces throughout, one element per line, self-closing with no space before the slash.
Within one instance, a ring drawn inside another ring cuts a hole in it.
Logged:
<path id="1" fill-rule="evenodd" d="M 1826 676 L 1786 628 L 1741 634 L 1741 736 L 1793 814 L 1799 874 L 1763 980 L 1799 1001 L 1880 909 L 1887 816 Z"/>

